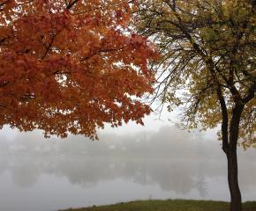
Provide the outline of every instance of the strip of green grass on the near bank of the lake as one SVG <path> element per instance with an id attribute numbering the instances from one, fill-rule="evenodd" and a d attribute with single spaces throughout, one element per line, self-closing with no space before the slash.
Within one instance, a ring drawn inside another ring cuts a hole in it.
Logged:
<path id="1" fill-rule="evenodd" d="M 230 210 L 230 202 L 215 200 L 135 200 L 114 205 L 99 207 L 82 207 L 77 209 L 65 209 L 65 211 L 225 211 Z M 243 203 L 243 211 L 255 211 L 256 202 Z M 61 211 L 61 210 L 59 210 Z"/>

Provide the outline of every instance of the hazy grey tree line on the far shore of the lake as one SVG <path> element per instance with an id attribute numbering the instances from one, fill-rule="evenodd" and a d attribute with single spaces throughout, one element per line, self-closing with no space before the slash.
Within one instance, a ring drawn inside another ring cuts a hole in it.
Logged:
<path id="1" fill-rule="evenodd" d="M 157 132 L 140 131 L 124 135 L 100 132 L 98 134 L 100 140 L 92 141 L 83 135 L 69 135 L 65 139 L 57 137 L 45 139 L 40 130 L 19 133 L 12 141 L 7 141 L 3 136 L 0 152 L 24 155 L 222 156 L 219 150 L 220 142 L 212 142 L 207 133 L 200 132 L 199 129 L 189 133 L 187 130 L 165 126 Z M 242 149 L 239 150 L 242 151 Z"/>

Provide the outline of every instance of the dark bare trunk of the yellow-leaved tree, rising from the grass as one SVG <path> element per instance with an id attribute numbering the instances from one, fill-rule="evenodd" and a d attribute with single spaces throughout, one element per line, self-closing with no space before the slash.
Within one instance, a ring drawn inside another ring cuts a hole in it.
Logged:
<path id="1" fill-rule="evenodd" d="M 226 146 L 223 146 L 223 151 L 228 158 L 228 180 L 230 187 L 230 211 L 242 210 L 242 197 L 238 186 L 238 170 L 237 170 L 237 139 L 239 130 L 239 121 L 243 112 L 244 106 L 237 104 L 233 111 L 230 120 L 230 139 Z M 222 130 L 224 127 L 222 127 Z M 223 133 L 223 131 L 222 131 Z"/>

